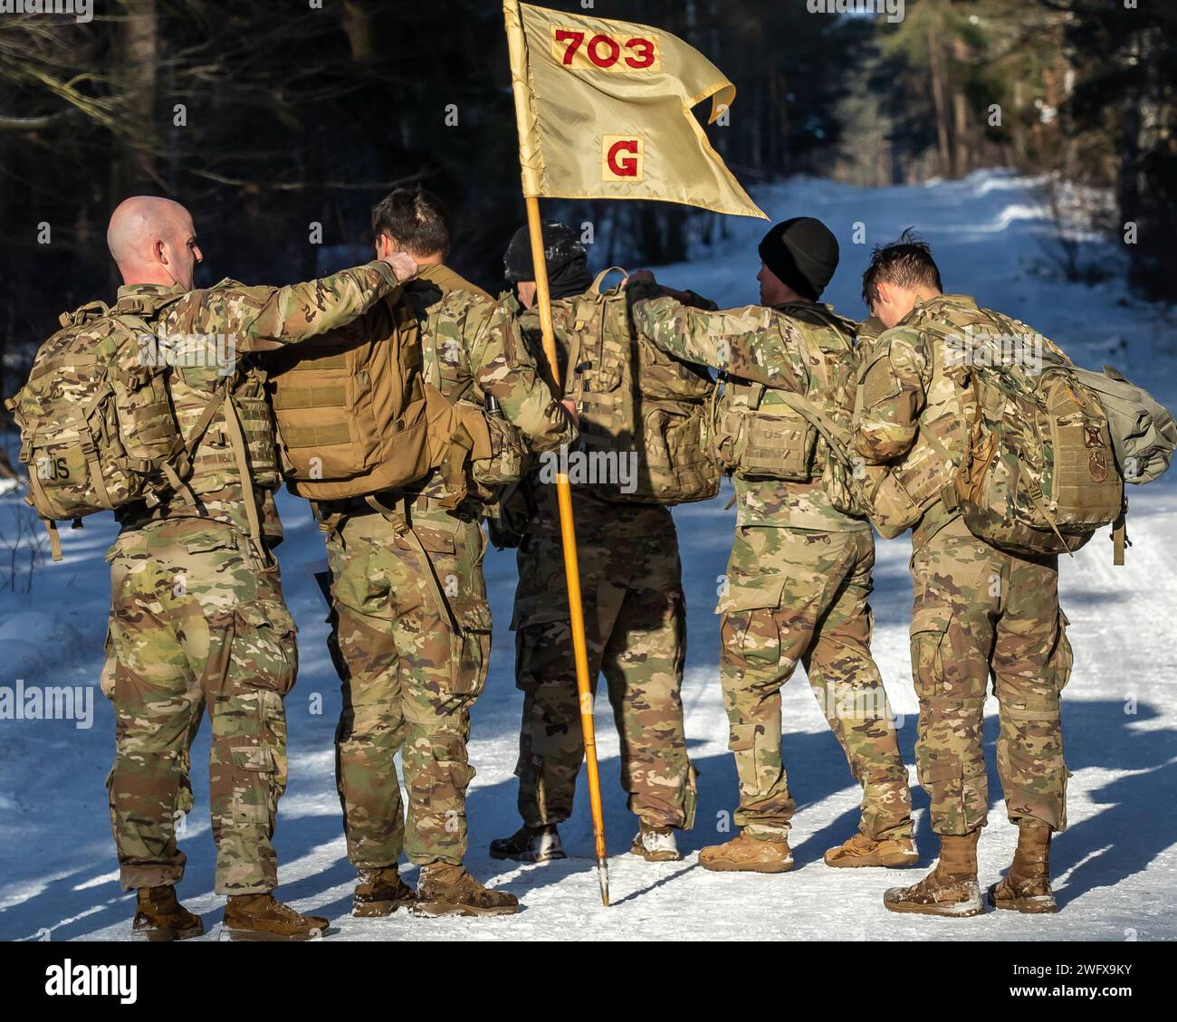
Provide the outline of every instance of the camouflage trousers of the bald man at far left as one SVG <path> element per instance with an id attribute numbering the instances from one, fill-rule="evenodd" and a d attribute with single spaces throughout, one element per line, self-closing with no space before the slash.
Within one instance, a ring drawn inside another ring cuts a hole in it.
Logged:
<path id="1" fill-rule="evenodd" d="M 197 518 L 124 532 L 107 559 L 102 689 L 117 716 L 107 789 L 122 887 L 184 876 L 175 830 L 192 808 L 189 749 L 207 709 L 215 890 L 272 890 L 286 788 L 282 698 L 298 670 L 278 566 L 264 566 L 233 526 Z"/>

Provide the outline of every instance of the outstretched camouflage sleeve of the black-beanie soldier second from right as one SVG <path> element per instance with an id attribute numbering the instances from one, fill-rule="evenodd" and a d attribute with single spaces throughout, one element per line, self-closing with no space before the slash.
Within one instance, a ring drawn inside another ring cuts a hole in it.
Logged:
<path id="1" fill-rule="evenodd" d="M 634 326 L 667 354 L 778 390 L 806 389 L 798 327 L 782 313 L 762 305 L 705 312 L 640 284 L 631 294 Z"/>

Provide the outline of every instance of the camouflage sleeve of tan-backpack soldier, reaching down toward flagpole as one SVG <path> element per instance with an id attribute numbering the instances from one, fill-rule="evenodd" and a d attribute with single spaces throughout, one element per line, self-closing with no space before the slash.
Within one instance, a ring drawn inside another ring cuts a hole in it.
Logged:
<path id="1" fill-rule="evenodd" d="M 576 440 L 577 427 L 540 377 L 519 320 L 505 304 L 470 301 L 463 333 L 479 389 L 498 400 L 507 422 L 533 450 L 550 451 Z"/>

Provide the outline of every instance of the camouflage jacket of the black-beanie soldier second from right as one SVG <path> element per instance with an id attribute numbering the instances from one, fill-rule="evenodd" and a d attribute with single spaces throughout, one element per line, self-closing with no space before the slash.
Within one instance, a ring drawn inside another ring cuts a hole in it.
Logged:
<path id="1" fill-rule="evenodd" d="M 833 327 L 805 317 L 803 305 L 749 305 L 719 312 L 687 308 L 645 284 L 631 287 L 633 323 L 654 344 L 685 361 L 711 366 L 750 383 L 804 394 L 809 384 L 803 332 Z M 822 306 L 831 314 L 830 306 Z M 804 318 L 803 318 L 804 317 Z M 790 483 L 734 477 L 737 525 L 856 532 L 870 524 L 838 511 L 822 479 Z"/>

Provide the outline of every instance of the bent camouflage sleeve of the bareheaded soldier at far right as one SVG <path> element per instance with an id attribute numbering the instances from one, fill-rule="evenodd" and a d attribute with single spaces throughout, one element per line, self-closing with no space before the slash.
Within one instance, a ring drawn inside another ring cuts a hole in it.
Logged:
<path id="1" fill-rule="evenodd" d="M 903 457 L 919 432 L 927 364 L 910 331 L 886 331 L 862 354 L 855 449 L 870 464 Z"/>

